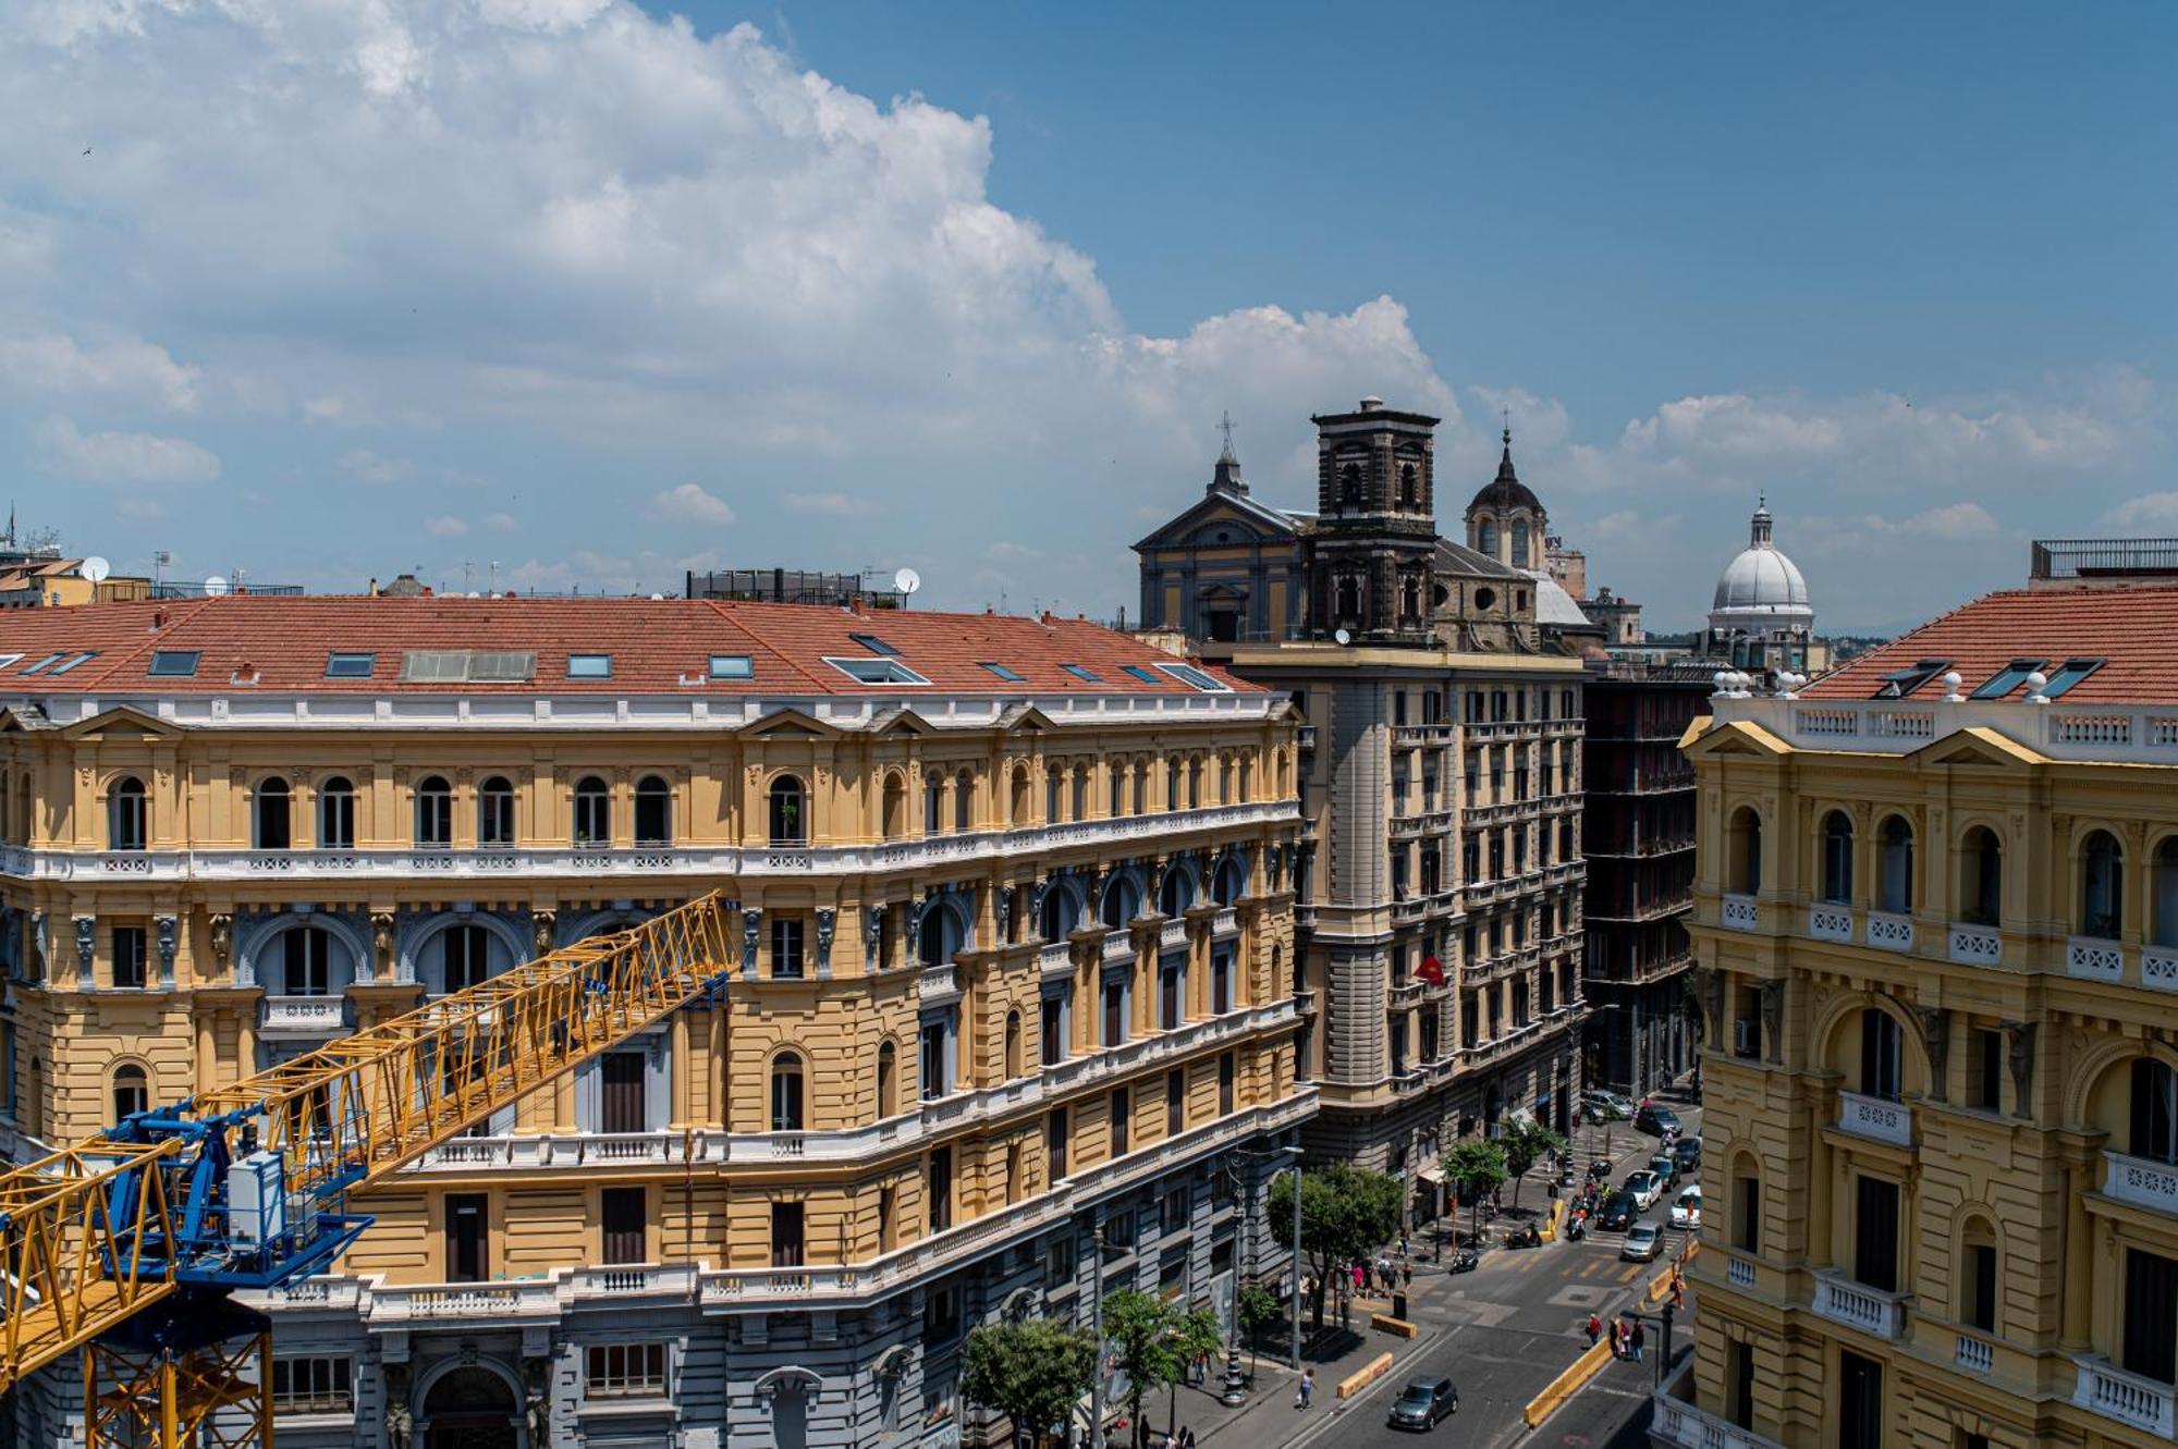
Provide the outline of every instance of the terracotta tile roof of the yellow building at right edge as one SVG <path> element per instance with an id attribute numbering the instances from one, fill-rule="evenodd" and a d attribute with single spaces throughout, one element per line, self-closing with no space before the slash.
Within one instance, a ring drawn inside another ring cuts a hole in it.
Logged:
<path id="1" fill-rule="evenodd" d="M 1962 694 L 2012 659 L 2043 659 L 2045 674 L 2067 659 L 2102 659 L 2060 696 L 2067 705 L 2178 705 L 2178 587 L 1984 594 L 1825 674 L 1801 698 L 1873 698 L 1884 674 L 1923 659 L 1958 670 Z M 1943 698 L 1941 679 L 1936 670 L 1904 698 Z"/>

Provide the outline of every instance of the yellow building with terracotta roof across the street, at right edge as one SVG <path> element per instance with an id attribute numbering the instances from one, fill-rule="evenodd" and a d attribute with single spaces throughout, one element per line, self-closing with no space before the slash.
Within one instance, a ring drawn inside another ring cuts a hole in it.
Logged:
<path id="1" fill-rule="evenodd" d="M 1666 1445 L 2178 1436 L 2178 590 L 1993 594 L 1690 731 Z"/>

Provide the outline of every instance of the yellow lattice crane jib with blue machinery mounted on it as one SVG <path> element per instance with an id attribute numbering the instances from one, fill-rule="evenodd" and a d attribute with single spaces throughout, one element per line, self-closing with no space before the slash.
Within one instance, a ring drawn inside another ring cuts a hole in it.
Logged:
<path id="1" fill-rule="evenodd" d="M 176 1288 L 325 1271 L 370 1223 L 348 1190 L 717 990 L 732 946 L 708 894 L 0 1173 L 0 1392 Z"/>

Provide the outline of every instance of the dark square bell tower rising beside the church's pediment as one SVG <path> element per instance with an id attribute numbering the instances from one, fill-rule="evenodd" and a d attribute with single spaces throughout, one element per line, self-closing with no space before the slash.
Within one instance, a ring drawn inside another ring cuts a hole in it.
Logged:
<path id="1" fill-rule="evenodd" d="M 1374 642 L 1427 640 L 1437 546 L 1437 420 L 1361 398 L 1316 422 L 1309 624 Z"/>

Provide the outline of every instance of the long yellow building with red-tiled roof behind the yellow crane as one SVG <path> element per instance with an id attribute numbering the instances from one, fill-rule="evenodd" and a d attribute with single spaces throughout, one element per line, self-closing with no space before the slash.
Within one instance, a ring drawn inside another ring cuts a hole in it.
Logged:
<path id="1" fill-rule="evenodd" d="M 4 622 L 17 1160 L 693 894 L 741 914 L 721 999 L 274 1295 L 283 1442 L 976 1442 L 965 1327 L 1276 1271 L 1248 1205 L 1313 1112 L 1283 698 L 1050 618 Z M 65 1384 L 17 1397 L 68 1432 Z"/>

